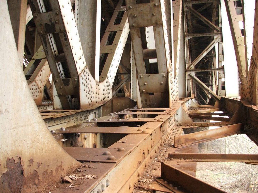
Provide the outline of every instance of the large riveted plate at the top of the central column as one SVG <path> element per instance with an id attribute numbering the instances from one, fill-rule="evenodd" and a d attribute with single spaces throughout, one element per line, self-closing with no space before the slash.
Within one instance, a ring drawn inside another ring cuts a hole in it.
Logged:
<path id="1" fill-rule="evenodd" d="M 162 25 L 160 2 L 128 5 L 126 9 L 130 28 Z"/>

